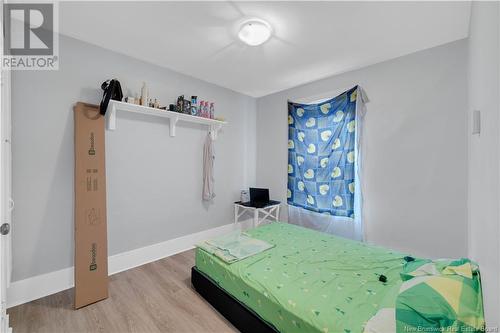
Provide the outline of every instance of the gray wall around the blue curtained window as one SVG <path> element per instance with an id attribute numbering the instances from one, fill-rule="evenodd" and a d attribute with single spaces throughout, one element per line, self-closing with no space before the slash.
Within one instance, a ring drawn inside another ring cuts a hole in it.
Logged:
<path id="1" fill-rule="evenodd" d="M 257 184 L 286 202 L 287 99 L 359 84 L 371 100 L 363 138 L 367 240 L 426 257 L 465 256 L 466 47 L 461 40 L 259 98 Z"/>

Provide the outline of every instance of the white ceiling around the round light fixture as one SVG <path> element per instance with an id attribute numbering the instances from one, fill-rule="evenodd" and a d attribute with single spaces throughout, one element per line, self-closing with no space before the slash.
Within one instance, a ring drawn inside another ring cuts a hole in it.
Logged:
<path id="1" fill-rule="evenodd" d="M 250 96 L 467 37 L 469 2 L 65 2 L 62 34 Z M 274 36 L 250 47 L 239 23 Z"/>

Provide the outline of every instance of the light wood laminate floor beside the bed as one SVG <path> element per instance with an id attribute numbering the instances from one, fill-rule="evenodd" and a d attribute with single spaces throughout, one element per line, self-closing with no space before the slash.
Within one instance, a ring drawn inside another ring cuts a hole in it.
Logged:
<path id="1" fill-rule="evenodd" d="M 8 310 L 21 332 L 237 332 L 191 286 L 194 250 L 109 278 L 109 298 L 73 310 L 73 290 Z"/>

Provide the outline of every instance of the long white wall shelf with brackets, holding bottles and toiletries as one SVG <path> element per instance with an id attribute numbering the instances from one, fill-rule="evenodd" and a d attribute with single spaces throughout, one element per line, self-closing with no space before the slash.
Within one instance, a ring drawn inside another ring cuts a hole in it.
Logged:
<path id="1" fill-rule="evenodd" d="M 147 106 L 111 100 L 109 101 L 108 110 L 106 111 L 108 130 L 114 131 L 116 129 L 117 111 L 126 111 L 155 117 L 169 118 L 170 136 L 175 136 L 175 128 L 177 126 L 177 122 L 185 121 L 189 123 L 207 125 L 209 127 L 210 135 L 215 140 L 222 126 L 227 124 L 227 121 L 203 118 L 179 112 L 160 110 Z"/>

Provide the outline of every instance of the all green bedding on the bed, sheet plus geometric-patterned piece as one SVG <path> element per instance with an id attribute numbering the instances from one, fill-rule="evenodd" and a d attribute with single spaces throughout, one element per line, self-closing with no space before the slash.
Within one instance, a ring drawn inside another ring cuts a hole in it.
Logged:
<path id="1" fill-rule="evenodd" d="M 247 234 L 274 247 L 231 264 L 198 247 L 196 267 L 280 332 L 484 326 L 479 270 L 467 259 L 407 263 L 403 253 L 286 223 Z"/>

